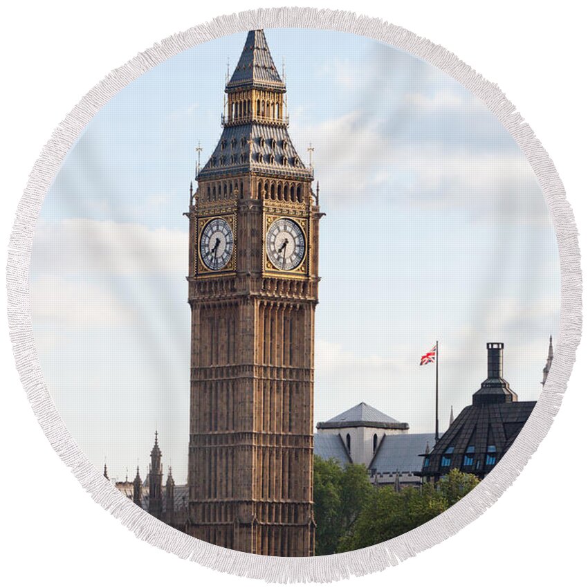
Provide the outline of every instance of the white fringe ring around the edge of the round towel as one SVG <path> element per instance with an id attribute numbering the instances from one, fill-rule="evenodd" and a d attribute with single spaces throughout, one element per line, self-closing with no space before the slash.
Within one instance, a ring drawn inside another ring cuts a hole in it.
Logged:
<path id="1" fill-rule="evenodd" d="M 549 379 L 531 418 L 513 447 L 466 497 L 434 520 L 400 537 L 338 555 L 274 558 L 224 549 L 172 529 L 141 510 L 107 481 L 77 447 L 46 388 L 30 317 L 29 266 L 39 212 L 68 149 L 110 98 L 150 68 L 183 50 L 252 28 L 317 28 L 363 35 L 405 50 L 437 66 L 483 100 L 515 138 L 531 163 L 545 195 L 558 239 L 562 302 L 560 332 Z M 112 71 L 87 93 L 55 129 L 30 173 L 10 238 L 8 252 L 8 320 L 17 369 L 35 416 L 55 451 L 93 499 L 143 539 L 160 549 L 206 567 L 268 582 L 329 582 L 385 569 L 453 535 L 475 520 L 510 486 L 557 414 L 580 342 L 581 272 L 578 234 L 564 187 L 551 159 L 520 113 L 499 90 L 443 47 L 380 19 L 353 12 L 315 8 L 269 8 L 218 17 L 172 35 Z"/>

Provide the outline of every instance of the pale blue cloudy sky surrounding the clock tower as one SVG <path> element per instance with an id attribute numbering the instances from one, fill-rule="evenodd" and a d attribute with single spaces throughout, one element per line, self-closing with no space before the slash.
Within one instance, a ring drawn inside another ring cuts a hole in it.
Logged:
<path id="1" fill-rule="evenodd" d="M 437 68 L 356 35 L 266 30 L 285 62 L 290 134 L 312 142 L 320 205 L 315 422 L 367 402 L 441 431 L 486 377 L 536 400 L 560 272 L 538 182 L 477 98 Z M 187 50 L 120 91 L 86 127 L 35 232 L 31 310 L 39 361 L 68 430 L 111 477 L 143 477 L 159 432 L 187 476 L 188 190 L 221 133 L 223 89 L 246 34 Z M 362 244 L 359 248 L 357 243 Z"/>

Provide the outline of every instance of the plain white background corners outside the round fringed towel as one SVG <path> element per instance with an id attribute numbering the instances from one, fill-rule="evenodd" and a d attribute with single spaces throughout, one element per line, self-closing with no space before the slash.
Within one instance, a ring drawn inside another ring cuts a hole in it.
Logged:
<path id="1" fill-rule="evenodd" d="M 28 172 L 51 131 L 111 68 L 158 40 L 215 16 L 280 5 L 282 2 L 228 0 L 196 10 L 196 2 L 178 0 L 102 0 L 93 4 L 28 2 L 13 4 L 8 11 L 5 8 L 0 41 L 3 247 L 8 244 Z M 553 158 L 580 233 L 588 232 L 587 68 L 581 3 L 420 0 L 389 5 L 307 0 L 304 5 L 381 17 L 445 46 L 497 82 Z M 580 246 L 588 249 L 582 235 Z M 6 307 L 3 288 L 1 296 Z M 3 584 L 261 585 L 259 580 L 221 575 L 140 542 L 84 493 L 35 421 L 14 369 L 4 313 L 0 321 Z M 588 523 L 587 350 L 583 342 L 549 435 L 520 479 L 488 513 L 399 567 L 347 584 L 582 584 Z"/>

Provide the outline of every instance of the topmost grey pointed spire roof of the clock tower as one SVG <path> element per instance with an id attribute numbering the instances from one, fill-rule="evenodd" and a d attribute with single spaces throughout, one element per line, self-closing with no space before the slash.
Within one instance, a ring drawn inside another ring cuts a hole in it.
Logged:
<path id="1" fill-rule="evenodd" d="M 237 67 L 226 89 L 259 87 L 286 90 L 286 84 L 279 77 L 261 28 L 250 30 Z"/>

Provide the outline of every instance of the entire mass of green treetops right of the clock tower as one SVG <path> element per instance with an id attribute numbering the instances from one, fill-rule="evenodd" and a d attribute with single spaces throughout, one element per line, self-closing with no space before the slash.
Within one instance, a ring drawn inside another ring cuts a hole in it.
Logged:
<path id="1" fill-rule="evenodd" d="M 315 457 L 316 555 L 361 549 L 392 539 L 440 515 L 478 483 L 451 470 L 437 485 L 371 486 L 364 466 L 341 468 Z"/>

